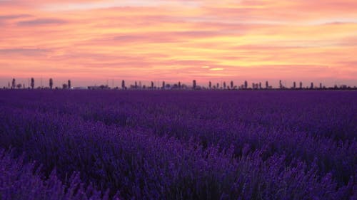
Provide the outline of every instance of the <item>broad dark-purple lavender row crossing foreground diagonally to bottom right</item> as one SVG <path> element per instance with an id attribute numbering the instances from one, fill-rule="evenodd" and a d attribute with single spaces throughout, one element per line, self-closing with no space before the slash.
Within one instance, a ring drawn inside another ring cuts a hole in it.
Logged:
<path id="1" fill-rule="evenodd" d="M 188 140 L 158 137 L 140 128 L 89 122 L 76 115 L 1 107 L 3 147 L 16 147 L 29 159 L 54 168 L 60 179 L 80 172 L 100 189 L 119 189 L 123 199 L 350 199 L 356 177 L 339 186 L 331 173 L 317 174 L 284 154 L 262 150 L 241 157 L 234 147 L 203 148 Z M 287 166 L 287 167 L 286 167 Z"/>

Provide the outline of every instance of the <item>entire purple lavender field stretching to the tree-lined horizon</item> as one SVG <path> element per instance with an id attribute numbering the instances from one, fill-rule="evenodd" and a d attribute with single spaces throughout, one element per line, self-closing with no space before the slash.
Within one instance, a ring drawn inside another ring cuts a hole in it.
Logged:
<path id="1" fill-rule="evenodd" d="M 0 199 L 357 199 L 356 91 L 0 90 Z"/>

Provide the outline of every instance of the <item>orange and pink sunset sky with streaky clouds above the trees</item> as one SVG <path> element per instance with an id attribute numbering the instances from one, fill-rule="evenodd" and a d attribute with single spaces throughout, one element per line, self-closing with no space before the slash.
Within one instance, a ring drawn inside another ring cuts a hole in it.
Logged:
<path id="1" fill-rule="evenodd" d="M 357 85 L 356 0 L 0 0 L 0 86 Z"/>

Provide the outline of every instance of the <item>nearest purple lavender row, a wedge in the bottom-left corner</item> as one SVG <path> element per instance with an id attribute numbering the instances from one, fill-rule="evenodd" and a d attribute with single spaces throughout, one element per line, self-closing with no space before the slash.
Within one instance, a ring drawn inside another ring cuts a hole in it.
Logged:
<path id="1" fill-rule="evenodd" d="M 106 200 L 109 191 L 102 194 L 93 186 L 84 187 L 78 173 L 63 184 L 53 170 L 48 179 L 41 175 L 35 162 L 25 163 L 23 157 L 14 158 L 11 152 L 0 149 L 0 199 L 2 200 Z M 67 186 L 68 185 L 68 186 Z M 113 199 L 119 200 L 114 197 Z"/>

